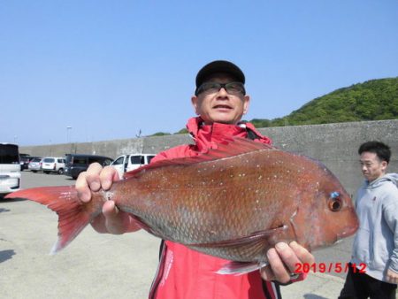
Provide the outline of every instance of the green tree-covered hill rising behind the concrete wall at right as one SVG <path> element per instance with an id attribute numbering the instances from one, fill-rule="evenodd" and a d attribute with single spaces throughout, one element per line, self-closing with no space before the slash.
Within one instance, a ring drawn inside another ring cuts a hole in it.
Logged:
<path id="1" fill-rule="evenodd" d="M 252 119 L 256 127 L 398 119 L 398 77 L 368 80 L 313 99 L 279 119 Z"/>

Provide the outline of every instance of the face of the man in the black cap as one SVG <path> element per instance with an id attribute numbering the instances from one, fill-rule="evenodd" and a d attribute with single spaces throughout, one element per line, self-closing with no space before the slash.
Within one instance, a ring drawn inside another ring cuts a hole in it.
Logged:
<path id="1" fill-rule="evenodd" d="M 233 78 L 224 73 L 211 76 L 206 82 L 228 83 L 233 82 Z M 232 95 L 221 88 L 218 92 L 200 93 L 192 96 L 196 114 L 200 115 L 206 125 L 214 122 L 223 124 L 237 124 L 241 116 L 248 111 L 249 96 L 243 94 Z"/>

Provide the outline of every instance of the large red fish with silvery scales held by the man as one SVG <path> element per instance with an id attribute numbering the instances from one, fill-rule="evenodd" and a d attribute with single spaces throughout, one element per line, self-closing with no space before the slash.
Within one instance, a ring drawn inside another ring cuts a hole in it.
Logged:
<path id="1" fill-rule="evenodd" d="M 150 234 L 234 261 L 245 272 L 266 264 L 267 249 L 297 241 L 328 246 L 356 232 L 351 198 L 325 165 L 309 157 L 233 139 L 197 157 L 143 166 L 80 203 L 73 187 L 32 188 L 23 197 L 58 214 L 56 252 L 113 200 Z M 239 263 L 236 263 L 239 262 Z M 231 265 L 232 265 L 231 264 Z"/>

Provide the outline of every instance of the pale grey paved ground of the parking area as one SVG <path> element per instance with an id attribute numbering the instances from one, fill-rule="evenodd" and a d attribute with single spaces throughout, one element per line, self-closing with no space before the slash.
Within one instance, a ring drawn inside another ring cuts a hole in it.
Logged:
<path id="1" fill-rule="evenodd" d="M 22 173 L 22 188 L 74 182 L 64 175 Z M 66 249 L 50 256 L 56 240 L 54 212 L 27 200 L 0 201 L 0 297 L 148 297 L 157 269 L 157 238 L 143 231 L 97 234 L 88 226 Z M 317 263 L 308 278 L 281 287 L 283 298 L 337 298 L 351 246 L 352 238 L 348 238 L 314 252 Z"/>

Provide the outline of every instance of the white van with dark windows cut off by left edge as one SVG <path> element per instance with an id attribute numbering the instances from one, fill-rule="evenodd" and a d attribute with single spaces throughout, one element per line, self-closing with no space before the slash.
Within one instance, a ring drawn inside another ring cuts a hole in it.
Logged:
<path id="1" fill-rule="evenodd" d="M 0 195 L 18 191 L 20 165 L 18 145 L 0 143 Z"/>

